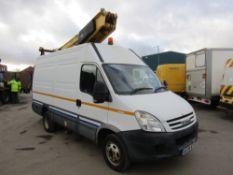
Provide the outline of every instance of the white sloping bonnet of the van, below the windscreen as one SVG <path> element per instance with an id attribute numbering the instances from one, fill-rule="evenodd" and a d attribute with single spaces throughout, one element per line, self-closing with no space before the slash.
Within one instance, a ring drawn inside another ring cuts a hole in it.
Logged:
<path id="1" fill-rule="evenodd" d="M 125 105 L 130 104 L 131 111 L 146 111 L 154 115 L 163 123 L 167 132 L 173 131 L 167 123 L 168 120 L 178 118 L 193 111 L 190 104 L 170 91 L 121 96 L 120 100 L 124 102 Z M 167 110 L 167 106 L 169 106 L 169 110 Z M 195 122 L 196 119 L 194 123 Z"/>

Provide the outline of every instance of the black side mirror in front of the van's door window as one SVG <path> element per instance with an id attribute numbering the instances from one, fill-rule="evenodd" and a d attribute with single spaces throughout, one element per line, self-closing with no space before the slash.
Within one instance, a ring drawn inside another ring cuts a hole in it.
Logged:
<path id="1" fill-rule="evenodd" d="M 109 100 L 109 92 L 106 85 L 102 82 L 96 82 L 93 88 L 94 103 L 104 103 Z"/>

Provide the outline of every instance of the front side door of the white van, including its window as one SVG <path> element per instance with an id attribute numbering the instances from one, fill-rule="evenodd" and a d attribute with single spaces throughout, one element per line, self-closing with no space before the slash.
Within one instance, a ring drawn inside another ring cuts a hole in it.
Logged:
<path id="1" fill-rule="evenodd" d="M 108 102 L 94 103 L 93 88 L 96 82 L 104 82 L 101 71 L 95 64 L 83 64 L 80 72 L 80 97 L 77 99 L 79 133 L 95 140 L 97 129 L 107 123 Z"/>

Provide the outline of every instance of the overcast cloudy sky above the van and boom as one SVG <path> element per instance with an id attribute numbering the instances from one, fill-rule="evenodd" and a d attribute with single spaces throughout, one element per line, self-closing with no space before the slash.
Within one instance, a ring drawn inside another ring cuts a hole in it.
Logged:
<path id="1" fill-rule="evenodd" d="M 232 0 L 0 0 L 0 58 L 33 64 L 105 8 L 118 14 L 115 44 L 139 55 L 233 47 Z"/>

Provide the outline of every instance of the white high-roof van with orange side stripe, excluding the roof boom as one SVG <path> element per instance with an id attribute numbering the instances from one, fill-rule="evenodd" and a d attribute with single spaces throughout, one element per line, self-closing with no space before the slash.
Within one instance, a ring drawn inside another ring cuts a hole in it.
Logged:
<path id="1" fill-rule="evenodd" d="M 197 140 L 197 118 L 129 49 L 82 44 L 40 56 L 33 110 L 46 131 L 62 125 L 100 145 L 106 163 L 185 155 Z"/>

